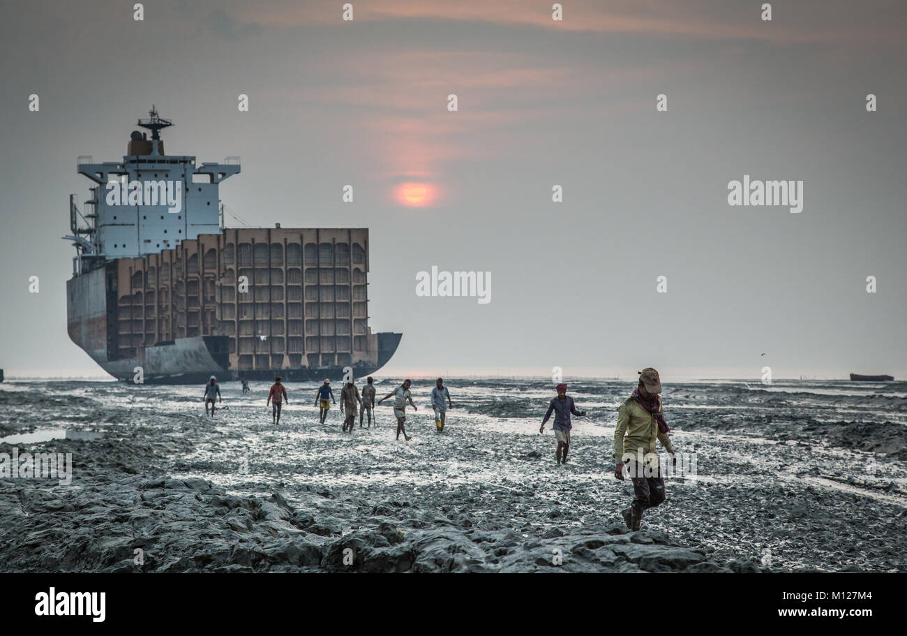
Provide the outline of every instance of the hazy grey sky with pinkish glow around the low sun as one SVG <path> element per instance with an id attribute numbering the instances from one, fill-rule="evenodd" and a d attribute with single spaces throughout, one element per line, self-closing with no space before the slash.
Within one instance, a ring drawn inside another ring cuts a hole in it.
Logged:
<path id="1" fill-rule="evenodd" d="M 120 161 L 151 103 L 167 152 L 241 157 L 220 197 L 250 224 L 370 228 L 387 373 L 904 375 L 907 4 L 343 4 L 0 0 L 8 375 L 100 372 L 60 237 L 76 157 Z M 804 181 L 804 210 L 729 206 L 744 174 Z M 492 301 L 417 297 L 433 265 L 491 271 Z"/>

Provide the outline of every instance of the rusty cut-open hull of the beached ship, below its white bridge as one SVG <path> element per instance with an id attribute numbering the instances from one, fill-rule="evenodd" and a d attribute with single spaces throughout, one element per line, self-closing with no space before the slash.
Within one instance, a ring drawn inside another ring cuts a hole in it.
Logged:
<path id="1" fill-rule="evenodd" d="M 367 241 L 364 229 L 224 230 L 111 260 L 68 281 L 69 335 L 125 381 L 364 377 L 402 337 L 367 326 Z"/>

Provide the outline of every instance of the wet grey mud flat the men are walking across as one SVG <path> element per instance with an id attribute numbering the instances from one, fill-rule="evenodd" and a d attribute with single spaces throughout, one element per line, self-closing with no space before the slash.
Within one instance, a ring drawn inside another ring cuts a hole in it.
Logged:
<path id="1" fill-rule="evenodd" d="M 408 444 L 389 408 L 353 435 L 335 410 L 317 424 L 299 404 L 314 386 L 288 387 L 277 427 L 264 395 L 232 386 L 229 410 L 208 420 L 187 387 L 59 383 L 35 411 L 27 386 L 5 385 L 3 435 L 102 435 L 16 445 L 71 453 L 73 478 L 0 479 L 0 570 L 907 571 L 902 401 L 674 387 L 668 421 L 697 475 L 668 479 L 668 501 L 630 533 L 619 510 L 631 488 L 610 457 L 626 385 L 574 385 L 590 417 L 561 467 L 552 436 L 537 435 L 548 386 L 451 384 L 463 408 L 444 435 L 424 412 L 429 384 L 416 384 Z M 892 426 L 883 445 L 873 424 Z"/>

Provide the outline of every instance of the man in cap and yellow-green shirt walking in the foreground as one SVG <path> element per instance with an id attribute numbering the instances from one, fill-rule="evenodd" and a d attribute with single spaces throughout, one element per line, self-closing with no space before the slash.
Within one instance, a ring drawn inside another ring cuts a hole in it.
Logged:
<path id="1" fill-rule="evenodd" d="M 672 456 L 674 446 L 668 437 L 668 423 L 662 415 L 661 379 L 658 371 L 646 367 L 639 371 L 639 385 L 618 407 L 618 424 L 614 429 L 614 476 L 624 478 L 624 470 L 633 481 L 633 503 L 621 514 L 630 530 L 639 530 L 642 513 L 665 500 L 665 478 L 658 465 L 655 443 Z"/>

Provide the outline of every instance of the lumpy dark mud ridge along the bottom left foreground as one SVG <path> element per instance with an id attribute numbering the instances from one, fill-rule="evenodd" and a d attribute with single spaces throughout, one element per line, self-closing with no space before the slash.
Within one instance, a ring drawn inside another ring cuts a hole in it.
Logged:
<path id="1" fill-rule="evenodd" d="M 238 496 L 204 479 L 148 475 L 60 488 L 3 489 L 5 572 L 729 571 L 663 533 L 617 524 L 547 536 L 489 527 L 468 512 L 465 492 L 445 511 L 327 489 L 306 491 L 296 508 L 280 493 Z"/>

